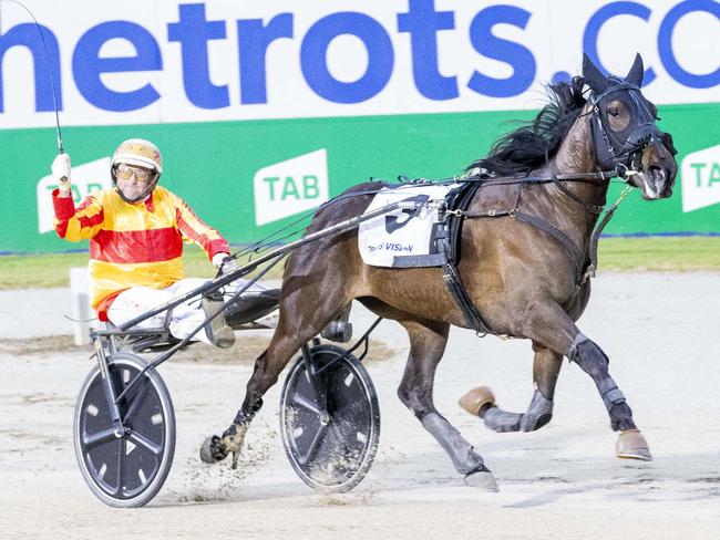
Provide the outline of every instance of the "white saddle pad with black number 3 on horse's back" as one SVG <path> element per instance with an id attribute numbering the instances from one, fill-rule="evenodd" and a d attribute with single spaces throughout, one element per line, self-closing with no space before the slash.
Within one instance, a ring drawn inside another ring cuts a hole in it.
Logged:
<path id="1" fill-rule="evenodd" d="M 422 206 L 398 209 L 361 222 L 358 243 L 362 261 L 385 268 L 443 264 L 444 253 L 435 246 L 438 227 L 442 225 L 439 210 L 444 210 L 445 197 L 457 187 L 457 184 L 405 184 L 378 191 L 366 212 L 402 200 Z"/>

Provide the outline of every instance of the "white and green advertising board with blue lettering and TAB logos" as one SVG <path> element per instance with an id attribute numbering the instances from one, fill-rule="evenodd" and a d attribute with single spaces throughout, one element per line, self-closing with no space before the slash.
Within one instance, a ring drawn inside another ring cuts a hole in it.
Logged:
<path id="1" fill-rule="evenodd" d="M 240 243 L 370 177 L 462 173 L 583 52 L 617 74 L 642 54 L 680 152 L 676 195 L 635 194 L 607 232 L 720 232 L 713 0 L 24 3 L 45 45 L 0 2 L 2 252 L 69 249 L 47 200 L 55 105 L 78 200 L 111 185 L 121 141 L 148 138 L 161 181 Z"/>

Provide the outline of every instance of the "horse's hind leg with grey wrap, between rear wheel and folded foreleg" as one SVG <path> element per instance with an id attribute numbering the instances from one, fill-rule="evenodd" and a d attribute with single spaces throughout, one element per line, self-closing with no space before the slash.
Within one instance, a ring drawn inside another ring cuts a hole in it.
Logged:
<path id="1" fill-rule="evenodd" d="M 444 323 L 400 321 L 410 336 L 410 354 L 398 395 L 422 423 L 422 426 L 448 453 L 457 472 L 465 475 L 466 484 L 496 491 L 497 484 L 460 432 L 438 413 L 432 391 L 435 367 L 445 351 L 450 326 Z"/>

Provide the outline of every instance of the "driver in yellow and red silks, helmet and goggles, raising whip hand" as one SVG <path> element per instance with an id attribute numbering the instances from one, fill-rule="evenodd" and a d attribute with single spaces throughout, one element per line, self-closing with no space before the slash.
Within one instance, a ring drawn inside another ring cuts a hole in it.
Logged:
<path id="1" fill-rule="evenodd" d="M 121 325 L 193 289 L 206 280 L 186 279 L 183 240 L 197 243 L 216 268 L 236 268 L 229 246 L 203 222 L 183 199 L 157 185 L 163 158 L 144 139 L 123 142 L 113 154 L 111 176 L 115 187 L 89 195 L 75 207 L 71 194 L 70 156 L 52 163 L 58 189 L 52 193 L 55 231 L 70 241 L 90 239 L 91 305 L 101 321 Z M 222 307 L 222 297 L 193 298 L 172 310 L 169 331 L 187 338 L 207 315 Z M 137 324 L 162 328 L 166 313 Z M 193 338 L 219 347 L 235 342 L 223 313 Z"/>

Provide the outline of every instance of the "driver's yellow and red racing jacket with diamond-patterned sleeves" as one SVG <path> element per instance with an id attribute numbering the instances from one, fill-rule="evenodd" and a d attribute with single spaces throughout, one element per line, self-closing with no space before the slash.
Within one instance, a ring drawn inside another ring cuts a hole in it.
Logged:
<path id="1" fill-rule="evenodd" d="M 52 194 L 55 231 L 70 241 L 90 240 L 90 294 L 101 320 L 115 297 L 131 287 L 164 289 L 183 279 L 183 241 L 200 246 L 208 258 L 229 252 L 227 241 L 187 204 L 163 187 L 140 202 L 116 190 L 89 195 L 75 208 L 72 197 Z"/>

